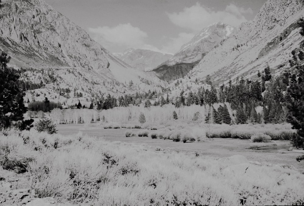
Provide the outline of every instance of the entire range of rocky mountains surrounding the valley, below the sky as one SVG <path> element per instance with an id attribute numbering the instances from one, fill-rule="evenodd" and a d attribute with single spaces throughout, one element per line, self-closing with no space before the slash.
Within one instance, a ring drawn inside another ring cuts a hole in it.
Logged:
<path id="1" fill-rule="evenodd" d="M 10 66 L 27 70 L 22 79 L 45 85 L 28 91 L 29 101 L 47 96 L 74 104 L 108 93 L 164 87 L 174 96 L 206 86 L 207 75 L 216 85 L 240 77 L 256 79 L 267 66 L 277 75 L 290 67 L 291 52 L 304 45 L 300 0 L 268 0 L 252 22 L 236 28 L 212 24 L 173 56 L 142 49 L 113 55 L 43 0 L 2 0 L 0 5 L 1 50 L 12 57 Z M 61 90 L 69 95 L 60 95 Z"/>

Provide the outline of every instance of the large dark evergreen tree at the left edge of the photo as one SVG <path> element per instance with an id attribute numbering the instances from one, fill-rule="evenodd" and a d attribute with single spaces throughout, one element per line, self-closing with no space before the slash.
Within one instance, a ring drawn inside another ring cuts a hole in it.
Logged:
<path id="1" fill-rule="evenodd" d="M 16 126 L 20 129 L 30 129 L 33 120 L 24 121 L 26 107 L 19 86 L 18 71 L 8 68 L 10 57 L 4 52 L 0 55 L 0 128 Z M 29 125 L 27 125 L 29 124 Z"/>

